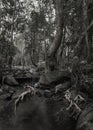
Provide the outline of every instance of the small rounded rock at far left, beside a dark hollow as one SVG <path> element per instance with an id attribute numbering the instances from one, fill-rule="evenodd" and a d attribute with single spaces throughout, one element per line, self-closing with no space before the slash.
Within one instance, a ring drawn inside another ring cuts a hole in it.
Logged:
<path id="1" fill-rule="evenodd" d="M 18 82 L 16 81 L 16 79 L 12 75 L 5 76 L 4 80 L 3 80 L 3 83 L 7 84 L 7 85 L 10 85 L 10 86 L 18 85 Z"/>

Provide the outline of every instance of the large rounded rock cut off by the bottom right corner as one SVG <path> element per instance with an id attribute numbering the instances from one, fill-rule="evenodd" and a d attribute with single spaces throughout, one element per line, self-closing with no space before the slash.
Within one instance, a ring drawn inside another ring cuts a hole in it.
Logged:
<path id="1" fill-rule="evenodd" d="M 93 102 L 82 111 L 77 121 L 76 130 L 93 130 Z"/>

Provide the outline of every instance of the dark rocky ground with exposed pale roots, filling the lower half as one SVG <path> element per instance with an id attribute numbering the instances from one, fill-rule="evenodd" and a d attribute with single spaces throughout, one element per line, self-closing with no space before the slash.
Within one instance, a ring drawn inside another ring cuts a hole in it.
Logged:
<path id="1" fill-rule="evenodd" d="M 0 130 L 92 130 L 93 67 L 87 65 L 79 90 L 67 70 L 42 74 L 6 72 L 0 89 Z"/>

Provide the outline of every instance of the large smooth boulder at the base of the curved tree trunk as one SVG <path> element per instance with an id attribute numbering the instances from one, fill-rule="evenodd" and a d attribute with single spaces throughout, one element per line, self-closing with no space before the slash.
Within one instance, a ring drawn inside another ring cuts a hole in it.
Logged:
<path id="1" fill-rule="evenodd" d="M 51 71 L 40 77 L 39 83 L 42 85 L 57 85 L 70 80 L 70 72 L 68 71 Z"/>

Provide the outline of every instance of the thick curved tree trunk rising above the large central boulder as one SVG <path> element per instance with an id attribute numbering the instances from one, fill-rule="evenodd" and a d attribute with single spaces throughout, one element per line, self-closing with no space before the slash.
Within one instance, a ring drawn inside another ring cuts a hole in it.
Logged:
<path id="1" fill-rule="evenodd" d="M 56 10 L 57 28 L 56 28 L 56 36 L 54 39 L 54 43 L 50 46 L 50 49 L 48 52 L 49 63 L 50 63 L 50 61 L 54 62 L 55 55 L 56 55 L 57 50 L 62 41 L 62 36 L 63 36 L 62 0 L 55 1 L 55 10 Z M 53 65 L 53 63 L 52 63 L 52 65 Z"/>

